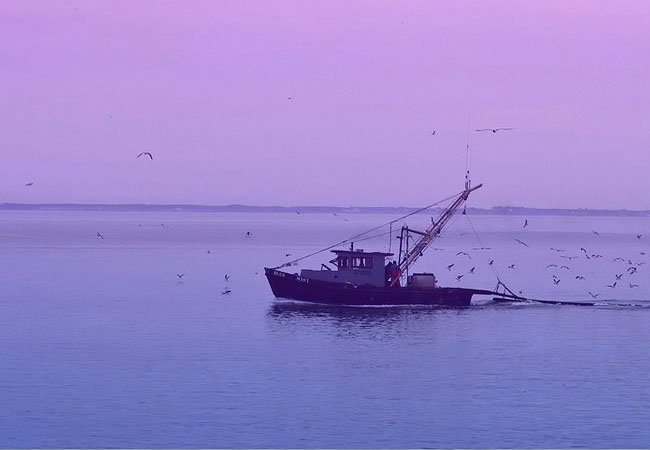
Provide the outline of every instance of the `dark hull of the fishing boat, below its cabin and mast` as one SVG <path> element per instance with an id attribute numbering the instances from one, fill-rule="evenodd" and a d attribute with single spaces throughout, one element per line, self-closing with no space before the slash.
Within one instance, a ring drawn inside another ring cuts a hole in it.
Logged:
<path id="1" fill-rule="evenodd" d="M 276 297 L 330 305 L 469 306 L 474 294 L 490 291 L 463 288 L 377 287 L 329 283 L 265 268 Z"/>

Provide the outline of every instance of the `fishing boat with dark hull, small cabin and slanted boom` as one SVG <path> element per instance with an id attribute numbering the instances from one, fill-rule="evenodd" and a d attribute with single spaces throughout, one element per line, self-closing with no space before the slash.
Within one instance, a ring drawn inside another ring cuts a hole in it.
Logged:
<path id="1" fill-rule="evenodd" d="M 393 253 L 355 249 L 353 240 L 355 237 L 353 237 L 334 245 L 349 243 L 348 249 L 332 250 L 334 246 L 331 246 L 316 252 L 331 250 L 335 254 L 335 258 L 329 261 L 329 265 L 321 264 L 320 269 L 301 269 L 300 273 L 293 274 L 281 270 L 296 265 L 298 260 L 278 267 L 265 267 L 266 278 L 273 294 L 284 299 L 332 305 L 469 306 L 474 295 L 517 297 L 485 289 L 439 286 L 433 273 L 410 273 L 413 264 L 440 235 L 453 215 L 465 204 L 469 195 L 481 186 L 482 184 L 472 187 L 466 180 L 463 191 L 448 199 L 451 201 L 449 206 L 437 219 L 431 219 L 431 225 L 426 230 L 418 231 L 402 226 L 400 235 L 397 236 L 400 248 L 395 265 L 391 266 Z M 427 208 L 429 207 L 407 216 Z M 412 237 L 414 235 L 417 239 Z M 411 240 L 415 240 L 413 245 Z"/>

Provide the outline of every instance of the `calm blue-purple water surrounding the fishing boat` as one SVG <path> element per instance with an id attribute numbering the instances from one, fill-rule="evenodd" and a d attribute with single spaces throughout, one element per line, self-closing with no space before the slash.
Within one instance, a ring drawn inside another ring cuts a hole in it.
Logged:
<path id="1" fill-rule="evenodd" d="M 0 212 L 0 447 L 650 447 L 650 218 L 460 216 L 418 267 L 594 307 L 274 299 L 346 217 Z"/>

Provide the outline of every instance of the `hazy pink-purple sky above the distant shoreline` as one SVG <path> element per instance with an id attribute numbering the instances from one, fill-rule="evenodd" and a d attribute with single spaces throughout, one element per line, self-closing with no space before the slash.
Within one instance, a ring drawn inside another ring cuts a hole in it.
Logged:
<path id="1" fill-rule="evenodd" d="M 3 0 L 0 61 L 0 203 L 415 206 L 514 127 L 471 205 L 650 209 L 646 0 Z"/>

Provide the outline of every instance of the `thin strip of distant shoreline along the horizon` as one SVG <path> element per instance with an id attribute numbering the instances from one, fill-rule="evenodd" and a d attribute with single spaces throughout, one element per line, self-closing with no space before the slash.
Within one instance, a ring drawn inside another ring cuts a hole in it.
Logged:
<path id="1" fill-rule="evenodd" d="M 145 204 L 76 204 L 76 203 L 0 203 L 0 211 L 170 211 L 170 212 L 250 212 L 250 213 L 290 213 L 290 214 L 408 214 L 418 208 L 402 206 L 249 206 L 249 205 L 145 205 Z M 431 208 L 423 214 L 442 211 Z M 517 216 L 633 216 L 649 217 L 650 211 L 627 209 L 562 209 L 527 208 L 521 206 L 494 206 L 492 208 L 467 208 L 478 215 L 517 215 Z"/>

